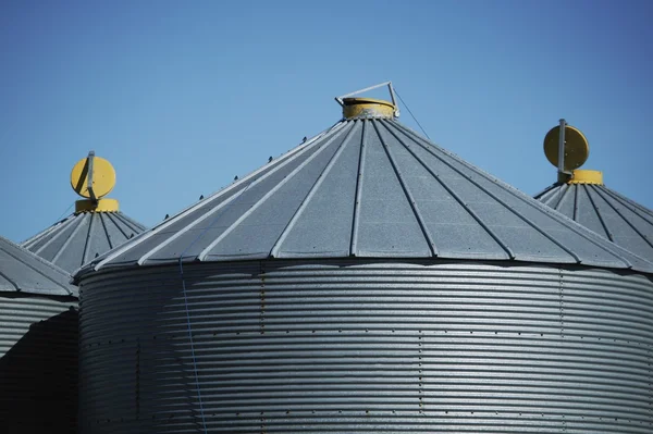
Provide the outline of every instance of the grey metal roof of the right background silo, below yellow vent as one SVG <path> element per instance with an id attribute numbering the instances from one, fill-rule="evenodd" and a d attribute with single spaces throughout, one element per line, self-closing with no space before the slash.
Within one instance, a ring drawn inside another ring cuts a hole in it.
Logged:
<path id="1" fill-rule="evenodd" d="M 535 199 L 653 261 L 653 211 L 603 186 L 554 184 Z"/>

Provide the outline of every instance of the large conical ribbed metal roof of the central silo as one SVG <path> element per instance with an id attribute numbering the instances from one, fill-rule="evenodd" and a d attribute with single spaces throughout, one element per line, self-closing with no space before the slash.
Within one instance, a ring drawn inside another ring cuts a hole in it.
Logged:
<path id="1" fill-rule="evenodd" d="M 653 264 L 392 117 L 348 119 L 85 266 L 403 257 Z"/>

